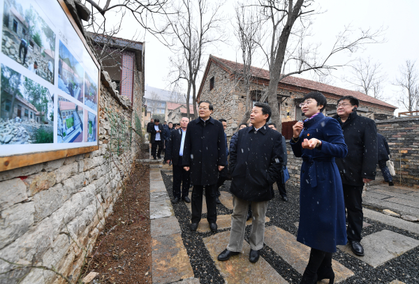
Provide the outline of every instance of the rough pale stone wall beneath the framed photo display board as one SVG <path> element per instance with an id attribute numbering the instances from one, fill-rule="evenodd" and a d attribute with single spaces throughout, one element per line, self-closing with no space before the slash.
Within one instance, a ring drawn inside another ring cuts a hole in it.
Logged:
<path id="1" fill-rule="evenodd" d="M 105 109 L 126 121 L 132 114 L 131 102 L 112 89 L 106 73 L 102 82 L 97 151 L 0 172 L 0 255 L 6 260 L 53 266 L 78 278 L 85 257 L 81 248 L 91 252 L 121 192 L 107 152 L 111 125 Z M 121 157 L 114 160 L 123 163 Z M 0 261 L 1 272 L 10 267 Z M 18 278 L 20 283 L 64 282 L 52 271 L 27 268 L 3 275 L 0 283 Z"/>

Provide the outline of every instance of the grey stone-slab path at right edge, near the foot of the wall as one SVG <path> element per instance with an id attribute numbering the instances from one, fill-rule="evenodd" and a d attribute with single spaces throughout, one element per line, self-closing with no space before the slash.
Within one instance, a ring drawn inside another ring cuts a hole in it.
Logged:
<path id="1" fill-rule="evenodd" d="M 419 189 L 388 186 L 386 183 L 367 186 L 363 204 L 378 209 L 390 209 L 401 215 L 419 218 Z"/>

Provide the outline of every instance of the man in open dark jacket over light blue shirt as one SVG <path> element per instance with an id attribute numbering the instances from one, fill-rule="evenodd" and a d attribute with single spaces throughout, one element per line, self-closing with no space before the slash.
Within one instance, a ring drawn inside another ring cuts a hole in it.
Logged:
<path id="1" fill-rule="evenodd" d="M 182 159 L 184 153 L 184 144 L 186 137 L 186 127 L 188 126 L 189 119 L 187 117 L 182 117 L 180 120 L 180 129 L 174 130 L 170 133 L 168 139 L 168 144 L 166 145 L 166 156 L 164 160 L 167 163 L 172 161 L 173 165 L 173 200 L 172 203 L 176 204 L 182 200 L 186 203 L 190 203 L 189 199 L 189 183 L 191 182 L 191 177 L 189 172 L 183 168 Z M 182 195 L 180 193 L 180 183 L 182 181 Z"/>

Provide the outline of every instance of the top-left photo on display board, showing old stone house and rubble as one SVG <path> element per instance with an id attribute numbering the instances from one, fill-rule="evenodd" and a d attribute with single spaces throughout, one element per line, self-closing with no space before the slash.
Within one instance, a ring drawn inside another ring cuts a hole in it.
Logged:
<path id="1" fill-rule="evenodd" d="M 55 33 L 31 1 L 4 1 L 1 52 L 54 84 Z"/>

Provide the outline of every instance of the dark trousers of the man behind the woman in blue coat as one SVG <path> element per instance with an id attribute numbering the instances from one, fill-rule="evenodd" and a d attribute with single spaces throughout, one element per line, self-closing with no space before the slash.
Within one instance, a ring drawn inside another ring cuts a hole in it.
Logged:
<path id="1" fill-rule="evenodd" d="M 360 241 L 362 239 L 362 224 L 364 214 L 362 213 L 362 186 L 350 186 L 344 184 L 344 200 L 346 213 L 348 214 L 348 227 L 346 235 L 348 241 Z"/>

